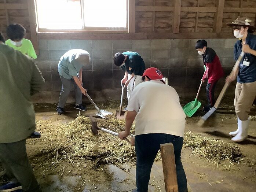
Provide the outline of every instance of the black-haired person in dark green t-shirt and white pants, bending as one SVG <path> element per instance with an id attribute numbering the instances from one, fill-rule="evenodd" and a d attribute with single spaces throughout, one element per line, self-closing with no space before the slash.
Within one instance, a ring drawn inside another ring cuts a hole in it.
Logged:
<path id="1" fill-rule="evenodd" d="M 127 86 L 127 99 L 129 103 L 135 86 L 142 82 L 145 63 L 139 53 L 126 51 L 123 53 L 118 52 L 114 55 L 114 64 L 118 67 L 120 66 L 125 71 L 124 78 L 122 78 L 121 82 L 125 87 Z M 126 107 L 124 110 L 126 110 Z"/>

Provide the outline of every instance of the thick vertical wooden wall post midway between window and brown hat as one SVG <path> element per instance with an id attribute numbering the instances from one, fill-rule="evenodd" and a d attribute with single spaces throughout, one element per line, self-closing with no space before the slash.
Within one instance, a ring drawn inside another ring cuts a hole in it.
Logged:
<path id="1" fill-rule="evenodd" d="M 180 7 L 181 0 L 173 0 L 172 29 L 173 33 L 180 31 Z"/>

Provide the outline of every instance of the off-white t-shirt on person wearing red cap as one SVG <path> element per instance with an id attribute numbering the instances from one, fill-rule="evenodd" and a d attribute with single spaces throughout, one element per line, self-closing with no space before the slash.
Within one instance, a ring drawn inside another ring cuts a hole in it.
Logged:
<path id="1" fill-rule="evenodd" d="M 184 137 L 186 115 L 180 106 L 179 95 L 160 80 L 140 83 L 134 88 L 128 111 L 136 111 L 135 136 L 166 133 Z"/>

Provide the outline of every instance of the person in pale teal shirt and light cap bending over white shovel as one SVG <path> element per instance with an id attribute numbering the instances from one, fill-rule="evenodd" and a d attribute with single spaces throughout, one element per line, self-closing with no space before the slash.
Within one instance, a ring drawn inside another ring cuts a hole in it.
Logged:
<path id="1" fill-rule="evenodd" d="M 67 97 L 72 88 L 75 88 L 76 104 L 75 109 L 86 111 L 86 106 L 82 105 L 83 94 L 87 91 L 83 88 L 83 66 L 88 65 L 91 61 L 90 54 L 83 49 L 71 49 L 62 55 L 58 64 L 59 76 L 61 77 L 62 88 L 59 96 L 59 104 L 56 108 L 59 115 L 64 113 L 64 107 Z"/>

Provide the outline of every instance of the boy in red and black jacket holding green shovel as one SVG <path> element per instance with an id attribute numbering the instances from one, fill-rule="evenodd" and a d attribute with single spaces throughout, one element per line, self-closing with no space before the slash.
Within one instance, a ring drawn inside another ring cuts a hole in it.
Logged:
<path id="1" fill-rule="evenodd" d="M 203 107 L 203 111 L 207 112 L 215 104 L 214 89 L 217 81 L 223 77 L 224 73 L 219 57 L 212 48 L 207 47 L 205 40 L 198 40 L 195 44 L 195 49 L 197 49 L 199 55 L 203 55 L 204 60 L 205 71 L 201 81 L 204 82 L 205 79 L 208 78 L 206 85 L 206 97 L 208 102 L 207 105 Z"/>

